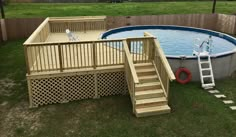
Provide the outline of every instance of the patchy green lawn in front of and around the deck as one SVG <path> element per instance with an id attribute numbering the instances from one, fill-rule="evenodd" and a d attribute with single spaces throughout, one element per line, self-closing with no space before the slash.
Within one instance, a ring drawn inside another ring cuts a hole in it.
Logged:
<path id="1" fill-rule="evenodd" d="M 129 96 L 29 109 L 22 43 L 0 46 L 0 136 L 235 137 L 236 112 L 200 88 L 171 83 L 172 113 L 136 118 Z M 236 102 L 236 78 L 216 82 Z"/>

